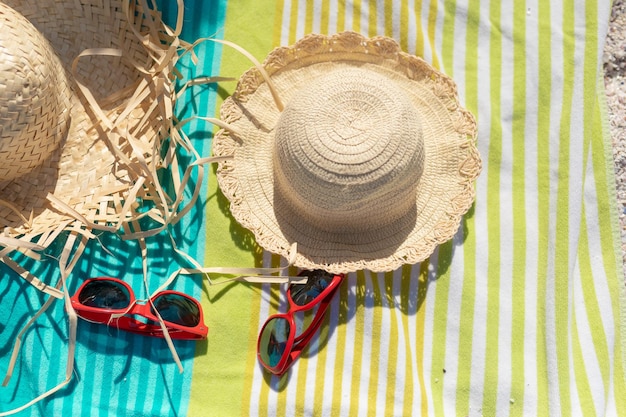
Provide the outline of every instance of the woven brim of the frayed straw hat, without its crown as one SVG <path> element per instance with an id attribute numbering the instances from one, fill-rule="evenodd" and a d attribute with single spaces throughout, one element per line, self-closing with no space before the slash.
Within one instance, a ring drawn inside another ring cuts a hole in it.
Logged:
<path id="1" fill-rule="evenodd" d="M 136 83 L 140 74 L 133 62 L 146 62 L 132 26 L 141 28 L 141 14 L 128 22 L 122 1 L 2 0 L 41 32 L 64 67 L 71 94 L 70 126 L 58 151 L 27 175 L 0 182 L 0 227 L 5 236 L 30 240 L 77 217 L 89 222 L 114 223 L 133 177 L 120 164 L 94 122 L 75 78 L 99 101 Z M 90 48 L 115 48 L 123 57 L 85 57 L 72 70 L 74 59 Z M 109 102 L 105 112 L 118 103 Z M 117 111 L 117 110 L 115 110 Z M 142 116 L 142 109 L 128 120 Z M 156 122 L 156 121 L 155 121 Z M 139 135 L 156 136 L 158 124 L 148 123 Z M 126 144 L 126 146 L 128 146 Z M 120 142 L 121 153 L 128 153 Z M 150 160 L 149 153 L 146 154 Z M 63 208 L 52 203 L 60 201 Z M 70 213 L 68 213 L 70 212 Z"/>

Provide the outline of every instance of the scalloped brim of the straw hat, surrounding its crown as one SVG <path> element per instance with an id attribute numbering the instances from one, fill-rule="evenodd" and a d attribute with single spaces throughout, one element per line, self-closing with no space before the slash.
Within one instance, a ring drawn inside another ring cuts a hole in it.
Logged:
<path id="1" fill-rule="evenodd" d="M 402 52 L 392 39 L 353 32 L 307 36 L 272 51 L 264 67 L 284 103 L 332 71 L 359 67 L 384 75 L 420 114 L 426 156 L 415 205 L 406 215 L 367 232 L 321 230 L 275 193 L 272 152 L 280 111 L 259 71 L 249 70 L 222 105 L 221 117 L 232 130 L 216 134 L 213 151 L 233 156 L 220 164 L 219 186 L 233 217 L 254 233 L 260 246 L 287 257 L 297 243 L 294 264 L 301 268 L 382 272 L 420 262 L 453 237 L 474 200 L 481 159 L 475 119 L 460 106 L 449 77 Z"/>

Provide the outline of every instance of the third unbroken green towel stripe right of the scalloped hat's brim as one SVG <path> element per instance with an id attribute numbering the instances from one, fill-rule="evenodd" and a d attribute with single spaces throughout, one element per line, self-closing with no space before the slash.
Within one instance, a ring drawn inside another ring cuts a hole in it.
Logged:
<path id="1" fill-rule="evenodd" d="M 548 381 L 545 377 L 547 369 L 547 346 L 545 330 L 546 284 L 548 281 L 548 254 L 550 253 L 550 118 L 549 111 L 542 111 L 549 105 L 552 96 L 552 19 L 550 2 L 539 1 L 539 33 L 538 33 L 538 106 L 537 114 L 537 380 L 530 381 L 537 385 L 537 412 L 546 415 L 548 405 Z"/>

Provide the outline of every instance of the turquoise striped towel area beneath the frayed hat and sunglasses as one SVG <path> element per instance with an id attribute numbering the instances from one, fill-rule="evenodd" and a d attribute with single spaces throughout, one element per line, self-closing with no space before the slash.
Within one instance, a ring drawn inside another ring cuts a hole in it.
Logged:
<path id="1" fill-rule="evenodd" d="M 181 37 L 193 41 L 199 37 L 219 34 L 224 24 L 225 3 L 225 0 L 186 0 L 185 26 Z M 163 12 L 166 21 L 175 21 L 176 1 L 161 0 L 159 10 Z M 188 59 L 179 64 L 184 76 L 217 75 L 221 56 L 219 45 L 207 42 L 196 51 L 201 60 L 195 68 L 189 65 Z M 180 105 L 176 109 L 178 117 L 194 114 L 213 116 L 215 88 L 198 88 L 193 93 L 200 105 Z M 210 152 L 211 130 L 211 126 L 203 123 L 191 123 L 187 128 L 188 133 L 204 132 L 191 136 L 194 146 L 203 156 L 208 156 Z M 210 169 L 205 169 L 205 181 Z M 200 202 L 206 201 L 206 189 L 205 183 Z M 172 228 L 179 248 L 200 263 L 203 262 L 206 242 L 204 234 L 198 235 L 196 232 L 204 230 L 205 225 L 204 216 L 197 214 L 203 210 L 203 205 L 198 204 L 180 225 Z M 69 277 L 70 293 L 73 294 L 87 277 L 110 275 L 127 280 L 136 296 L 145 298 L 137 244 L 122 242 L 109 235 L 101 235 L 100 240 L 114 256 L 102 250 L 97 241 L 90 242 L 82 261 Z M 149 284 L 150 290 L 154 290 L 183 261 L 177 259 L 167 235 L 151 238 L 148 243 L 153 257 L 148 266 Z M 54 254 L 53 250 L 49 252 Z M 58 272 L 51 265 L 50 262 L 41 262 L 33 267 L 46 282 L 54 283 L 58 279 Z M 14 278 L 14 274 L 5 268 L 0 265 L 0 274 L 4 278 L 0 280 L 0 314 L 12 318 L 8 322 L 2 321 L 3 325 L 6 323 L 1 329 L 2 340 L 9 343 L 8 346 L 0 347 L 3 370 L 12 348 L 9 335 L 15 336 L 43 303 L 40 294 L 23 280 Z M 201 284 L 200 277 L 180 278 L 173 284 L 173 288 L 200 298 Z M 7 300 L 14 301 L 9 305 Z M 61 393 L 17 415 L 186 415 L 197 343 L 174 341 L 174 344 L 185 369 L 182 374 L 179 374 L 165 341 L 79 320 L 74 379 Z M 26 334 L 13 379 L 9 387 L 2 389 L 0 411 L 19 407 L 63 381 L 67 349 L 67 317 L 63 302 L 57 301 L 39 319 L 36 330 L 31 329 Z"/>

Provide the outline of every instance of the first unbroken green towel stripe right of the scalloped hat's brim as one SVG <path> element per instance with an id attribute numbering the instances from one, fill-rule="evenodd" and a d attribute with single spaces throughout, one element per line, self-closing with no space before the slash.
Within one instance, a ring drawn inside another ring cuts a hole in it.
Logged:
<path id="1" fill-rule="evenodd" d="M 489 4 L 489 20 L 500 22 L 502 17 L 501 4 L 498 1 Z M 487 341 L 485 363 L 498 363 L 498 326 L 500 311 L 500 168 L 502 160 L 502 122 L 501 122 L 501 85 L 502 85 L 502 38 L 500 32 L 491 31 L 490 38 L 490 102 L 491 129 L 489 132 L 489 158 L 487 169 L 487 218 L 489 224 L 489 254 L 487 266 L 487 286 L 489 300 L 487 304 Z M 483 174 L 484 175 L 484 174 Z M 498 386 L 498 367 L 485 367 L 485 387 Z M 497 390 L 486 389 L 483 394 L 483 411 L 495 413 Z"/>

